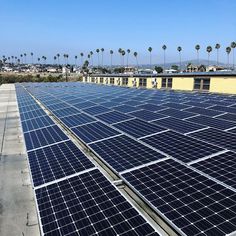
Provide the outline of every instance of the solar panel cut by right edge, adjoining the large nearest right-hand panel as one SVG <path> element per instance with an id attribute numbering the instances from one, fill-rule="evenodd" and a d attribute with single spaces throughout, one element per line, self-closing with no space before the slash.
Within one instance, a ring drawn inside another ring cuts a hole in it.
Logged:
<path id="1" fill-rule="evenodd" d="M 236 192 L 236 153 L 227 151 L 191 164 L 206 176 L 216 179 Z"/>

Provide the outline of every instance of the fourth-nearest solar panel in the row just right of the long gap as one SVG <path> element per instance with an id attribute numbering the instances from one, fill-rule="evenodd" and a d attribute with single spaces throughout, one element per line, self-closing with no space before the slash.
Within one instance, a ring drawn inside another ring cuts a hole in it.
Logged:
<path id="1" fill-rule="evenodd" d="M 65 116 L 63 118 L 60 118 L 60 120 L 69 128 L 96 121 L 95 119 L 84 113 Z"/>

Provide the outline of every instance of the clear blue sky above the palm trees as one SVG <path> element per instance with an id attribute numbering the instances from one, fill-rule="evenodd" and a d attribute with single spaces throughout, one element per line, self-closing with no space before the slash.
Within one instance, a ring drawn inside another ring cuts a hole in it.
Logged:
<path id="1" fill-rule="evenodd" d="M 119 63 L 119 48 L 138 52 L 139 63 L 207 59 L 206 47 L 221 44 L 220 61 L 226 62 L 225 48 L 236 41 L 235 0 L 0 0 L 0 57 L 33 52 L 53 61 L 57 53 L 69 54 L 69 62 L 83 52 L 104 48 L 104 64 Z M 95 53 L 96 54 L 96 53 Z M 232 53 L 231 53 L 232 54 Z M 216 60 L 216 50 L 211 53 Z M 30 60 L 30 58 L 28 58 Z M 231 55 L 232 60 L 232 55 Z M 97 61 L 94 55 L 94 64 Z"/>

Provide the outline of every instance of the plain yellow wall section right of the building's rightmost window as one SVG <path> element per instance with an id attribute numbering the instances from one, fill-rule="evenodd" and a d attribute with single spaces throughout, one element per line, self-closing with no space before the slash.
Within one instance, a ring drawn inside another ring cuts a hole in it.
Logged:
<path id="1" fill-rule="evenodd" d="M 211 77 L 210 92 L 236 94 L 236 77 Z"/>

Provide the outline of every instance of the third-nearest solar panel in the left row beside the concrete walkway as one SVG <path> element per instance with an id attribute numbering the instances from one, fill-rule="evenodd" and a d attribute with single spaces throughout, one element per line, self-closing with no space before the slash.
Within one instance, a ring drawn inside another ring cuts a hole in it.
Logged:
<path id="1" fill-rule="evenodd" d="M 30 131 L 24 136 L 27 151 L 68 139 L 57 125 Z"/>

